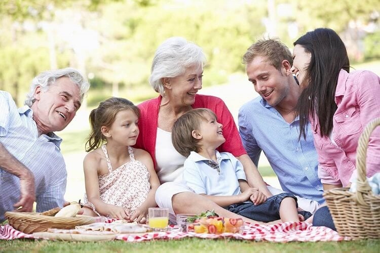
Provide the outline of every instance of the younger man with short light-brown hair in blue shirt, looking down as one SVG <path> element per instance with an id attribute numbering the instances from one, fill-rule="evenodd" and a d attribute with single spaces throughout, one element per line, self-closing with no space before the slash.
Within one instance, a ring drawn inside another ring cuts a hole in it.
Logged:
<path id="1" fill-rule="evenodd" d="M 276 39 L 259 40 L 243 56 L 248 80 L 261 97 L 239 111 L 239 130 L 249 157 L 257 165 L 261 151 L 267 156 L 284 191 L 297 196 L 298 206 L 314 213 L 324 202 L 318 178 L 318 157 L 312 128 L 298 140 L 299 119 L 293 108 L 300 94 L 290 68 L 289 49 Z M 268 187 L 272 194 L 281 191 Z"/>

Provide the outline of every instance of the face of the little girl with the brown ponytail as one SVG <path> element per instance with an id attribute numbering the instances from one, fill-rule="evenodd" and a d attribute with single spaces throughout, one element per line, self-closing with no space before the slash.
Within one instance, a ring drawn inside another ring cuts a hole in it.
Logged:
<path id="1" fill-rule="evenodd" d="M 107 142 L 115 142 L 122 146 L 135 145 L 139 134 L 137 115 L 133 110 L 118 112 L 106 134 Z"/>

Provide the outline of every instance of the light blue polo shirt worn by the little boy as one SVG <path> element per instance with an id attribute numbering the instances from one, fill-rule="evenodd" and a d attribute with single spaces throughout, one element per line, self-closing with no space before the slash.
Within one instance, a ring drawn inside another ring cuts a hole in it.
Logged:
<path id="1" fill-rule="evenodd" d="M 247 180 L 242 163 L 231 153 L 216 151 L 220 175 L 205 161 L 209 159 L 191 152 L 183 167 L 183 182 L 198 194 L 233 196 L 241 193 L 239 179 Z"/>

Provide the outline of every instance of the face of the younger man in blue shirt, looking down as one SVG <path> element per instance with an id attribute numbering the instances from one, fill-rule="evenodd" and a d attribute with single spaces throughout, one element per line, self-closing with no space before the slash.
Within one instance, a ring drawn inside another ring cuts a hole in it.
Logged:
<path id="1" fill-rule="evenodd" d="M 284 66 L 276 69 L 266 57 L 257 56 L 246 66 L 248 80 L 269 105 L 277 106 L 289 94 L 289 81 Z"/>

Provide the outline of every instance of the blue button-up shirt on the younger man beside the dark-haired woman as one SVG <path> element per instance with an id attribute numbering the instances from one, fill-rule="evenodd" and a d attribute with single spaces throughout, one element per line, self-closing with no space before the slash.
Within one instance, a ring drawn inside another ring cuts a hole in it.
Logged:
<path id="1" fill-rule="evenodd" d="M 261 97 L 247 102 L 239 110 L 239 132 L 256 166 L 262 150 L 284 191 L 323 203 L 318 155 L 310 130 L 309 126 L 306 140 L 302 137 L 298 141 L 299 120 L 286 122 Z"/>

